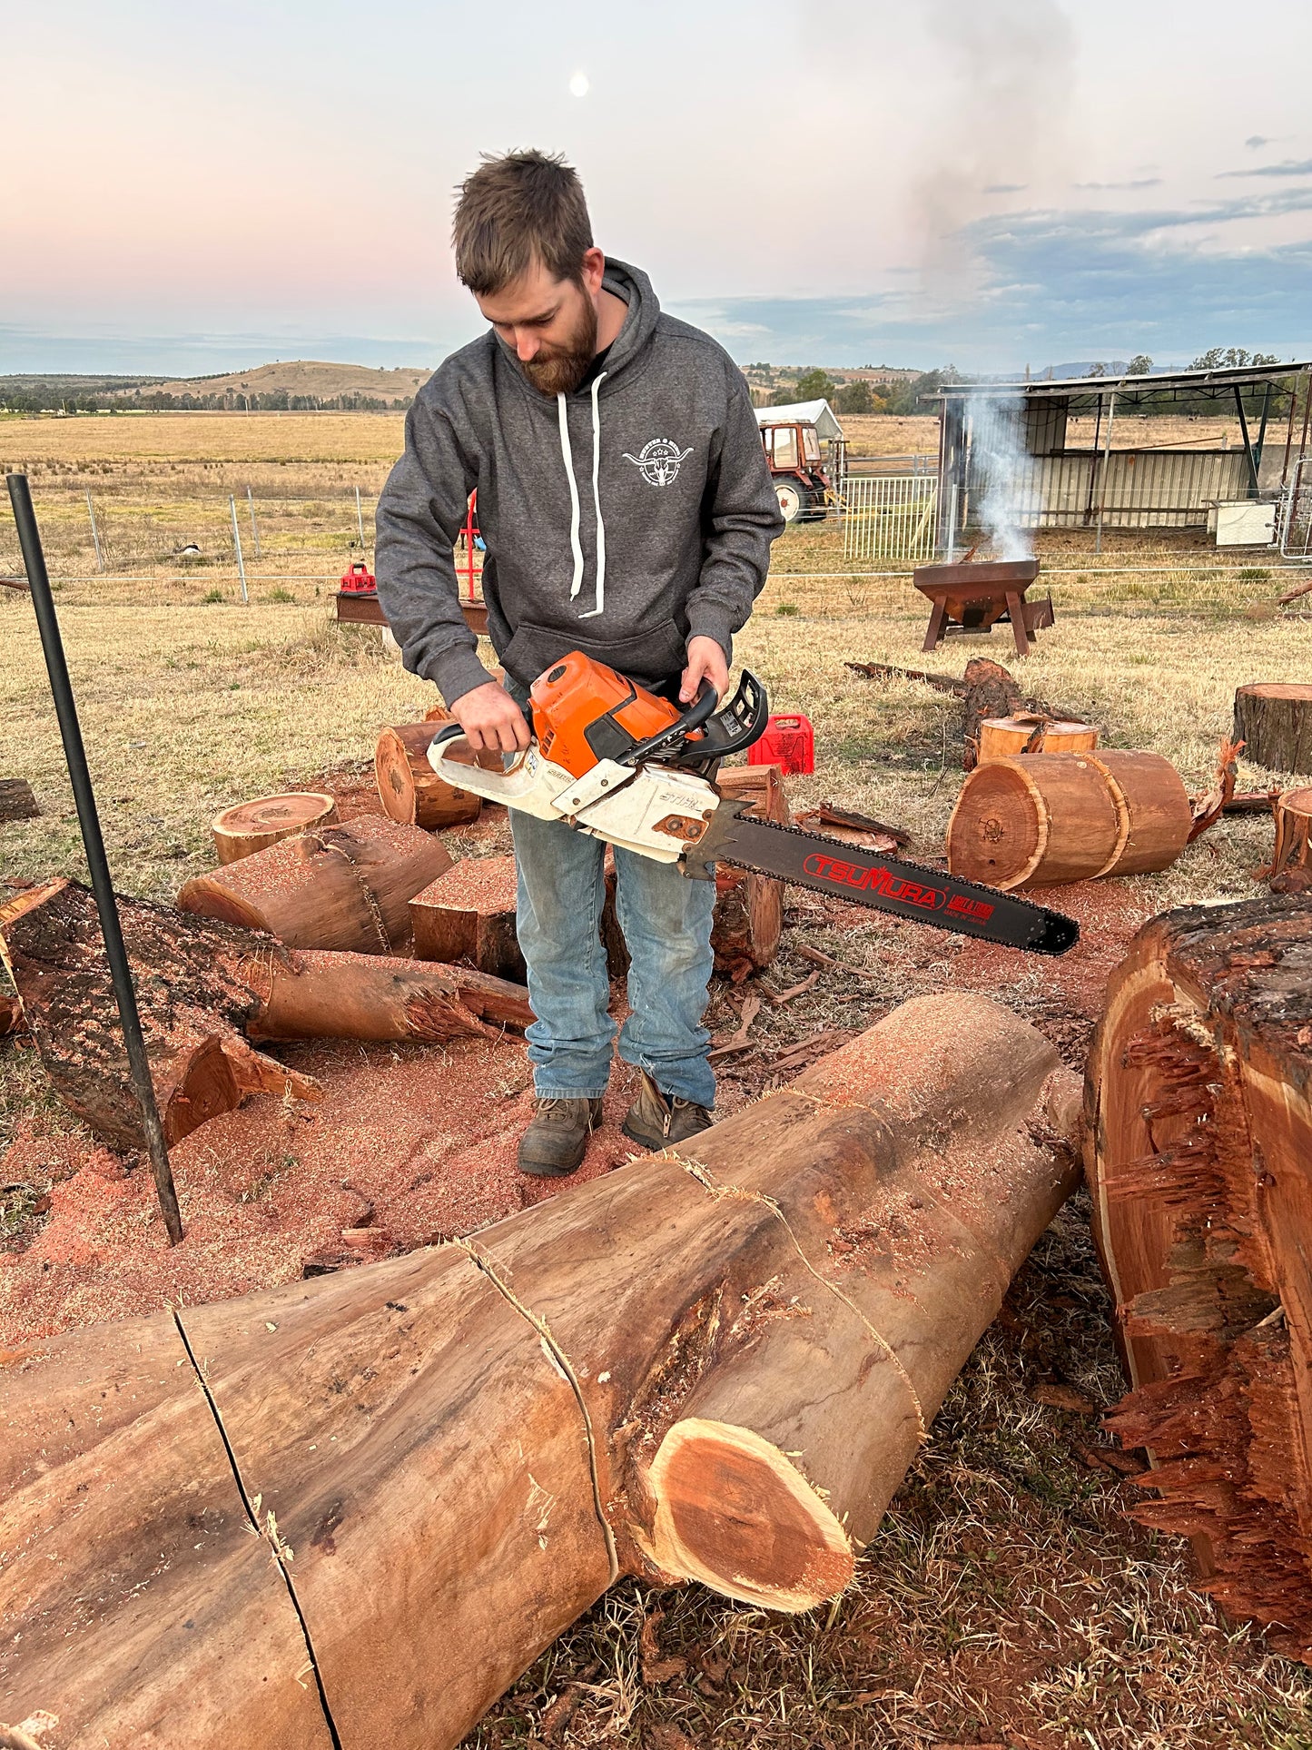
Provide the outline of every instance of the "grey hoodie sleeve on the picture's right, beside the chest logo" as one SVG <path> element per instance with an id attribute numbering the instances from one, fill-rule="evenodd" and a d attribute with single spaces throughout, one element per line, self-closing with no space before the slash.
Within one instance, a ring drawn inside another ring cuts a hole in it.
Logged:
<path id="1" fill-rule="evenodd" d="M 687 635 L 714 639 L 733 662 L 733 634 L 747 625 L 764 588 L 784 516 L 747 382 L 729 359 L 724 374 L 724 438 L 707 486 L 701 576 L 687 597 Z"/>

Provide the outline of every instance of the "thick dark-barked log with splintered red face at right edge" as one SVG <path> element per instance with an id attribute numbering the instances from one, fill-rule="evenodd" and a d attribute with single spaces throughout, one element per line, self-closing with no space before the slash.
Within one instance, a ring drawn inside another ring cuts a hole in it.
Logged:
<path id="1" fill-rule="evenodd" d="M 1111 978 L 1086 1169 L 1151 1470 L 1132 1510 L 1312 1659 L 1312 901 L 1186 906 Z M 1153 1494 L 1148 1494 L 1153 1491 Z"/>

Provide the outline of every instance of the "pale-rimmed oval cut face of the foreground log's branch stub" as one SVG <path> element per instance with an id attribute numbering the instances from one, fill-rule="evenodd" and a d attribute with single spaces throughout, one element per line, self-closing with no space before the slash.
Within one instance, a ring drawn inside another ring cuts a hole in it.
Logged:
<path id="1" fill-rule="evenodd" d="M 850 1584 L 852 1544 L 801 1472 L 761 1435 L 689 1418 L 661 1440 L 653 1558 L 764 1610 L 812 1610 Z"/>

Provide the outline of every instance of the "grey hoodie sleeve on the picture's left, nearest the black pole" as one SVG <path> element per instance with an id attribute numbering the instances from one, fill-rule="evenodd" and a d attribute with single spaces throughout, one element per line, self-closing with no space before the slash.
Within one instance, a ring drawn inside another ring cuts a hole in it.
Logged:
<path id="1" fill-rule="evenodd" d="M 474 457 L 446 411 L 422 396 L 406 415 L 406 453 L 378 500 L 378 600 L 401 658 L 448 705 L 492 679 L 460 612 L 455 541 L 478 485 Z"/>

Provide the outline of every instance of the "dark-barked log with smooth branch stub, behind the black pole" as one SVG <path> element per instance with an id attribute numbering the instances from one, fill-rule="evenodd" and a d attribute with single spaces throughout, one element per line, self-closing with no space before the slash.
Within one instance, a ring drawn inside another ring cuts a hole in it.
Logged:
<path id="1" fill-rule="evenodd" d="M 294 952 L 271 936 L 119 898 L 150 1076 L 177 1143 L 250 1094 L 320 1099 L 269 1040 L 450 1040 L 532 1020 L 520 985 L 465 968 Z M 100 919 L 49 882 L 0 906 L 0 952 L 59 1099 L 114 1148 L 143 1148 Z"/>

